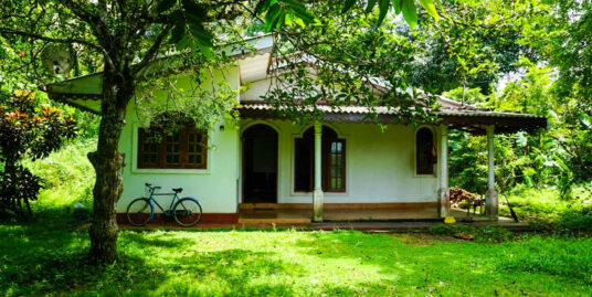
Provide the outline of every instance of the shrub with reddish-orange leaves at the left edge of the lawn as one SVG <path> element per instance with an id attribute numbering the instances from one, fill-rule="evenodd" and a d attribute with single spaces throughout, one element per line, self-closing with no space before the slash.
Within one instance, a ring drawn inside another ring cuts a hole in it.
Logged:
<path id="1" fill-rule="evenodd" d="M 43 180 L 21 165 L 25 157 L 47 157 L 76 136 L 76 121 L 49 105 L 39 106 L 35 94 L 0 92 L 0 216 L 24 219 Z M 0 218 L 0 219 L 6 219 Z"/>

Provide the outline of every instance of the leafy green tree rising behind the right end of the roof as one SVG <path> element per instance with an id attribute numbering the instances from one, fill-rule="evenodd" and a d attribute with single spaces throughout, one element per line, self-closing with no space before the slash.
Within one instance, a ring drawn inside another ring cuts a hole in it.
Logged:
<path id="1" fill-rule="evenodd" d="M 540 60 L 538 46 L 522 42 L 533 19 L 548 13 L 539 0 L 447 1 L 447 21 L 425 19 L 419 32 L 399 32 L 414 41 L 411 82 L 442 93 L 480 88 L 485 95 L 504 74 L 520 68 L 520 56 Z M 462 99 L 462 98 L 461 98 Z"/>

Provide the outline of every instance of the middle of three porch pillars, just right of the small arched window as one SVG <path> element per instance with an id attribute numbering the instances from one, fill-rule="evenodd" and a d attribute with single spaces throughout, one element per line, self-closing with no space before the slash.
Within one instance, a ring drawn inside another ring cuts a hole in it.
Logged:
<path id="1" fill-rule="evenodd" d="M 438 214 L 440 218 L 447 216 L 451 211 L 451 192 L 448 190 L 448 126 L 440 125 L 440 190 L 438 190 Z"/>

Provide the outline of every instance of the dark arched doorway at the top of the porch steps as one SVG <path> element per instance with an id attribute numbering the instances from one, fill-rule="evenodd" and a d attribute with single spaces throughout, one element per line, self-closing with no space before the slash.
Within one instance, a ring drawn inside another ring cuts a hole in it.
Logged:
<path id="1" fill-rule="evenodd" d="M 243 202 L 277 202 L 277 131 L 257 124 L 243 131 Z"/>

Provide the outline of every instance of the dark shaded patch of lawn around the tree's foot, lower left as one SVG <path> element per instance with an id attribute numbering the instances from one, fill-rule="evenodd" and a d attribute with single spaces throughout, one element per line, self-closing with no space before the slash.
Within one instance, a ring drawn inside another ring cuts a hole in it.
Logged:
<path id="1" fill-rule="evenodd" d="M 87 230 L 64 210 L 44 210 L 22 224 L 0 225 L 0 296 L 53 295 L 149 279 L 141 257 L 124 255 L 107 266 L 87 263 Z"/>

